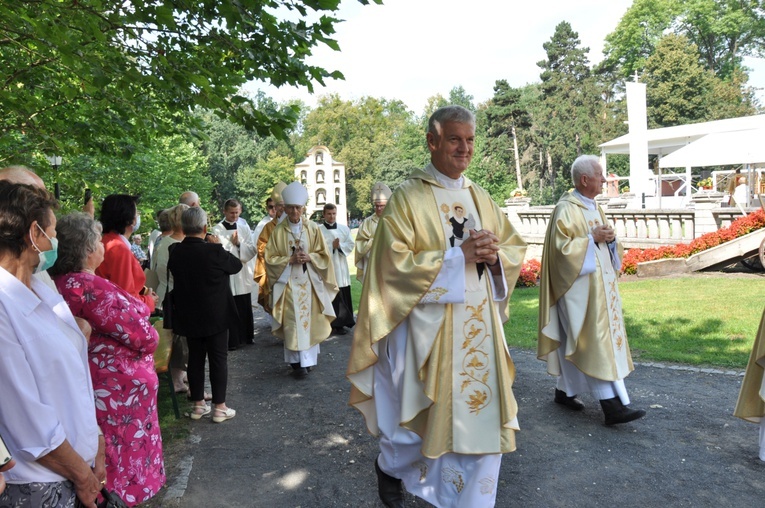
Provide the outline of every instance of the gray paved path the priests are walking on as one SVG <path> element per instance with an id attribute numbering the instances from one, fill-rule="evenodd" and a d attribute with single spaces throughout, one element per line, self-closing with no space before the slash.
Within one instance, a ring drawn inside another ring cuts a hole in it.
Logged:
<path id="1" fill-rule="evenodd" d="M 350 335 L 322 344 L 307 379 L 289 375 L 282 346 L 256 315 L 256 343 L 229 356 L 227 403 L 217 425 L 189 421 L 168 450 L 167 507 L 381 507 L 376 440 L 347 406 Z M 759 507 L 765 463 L 758 427 L 731 413 L 741 372 L 637 365 L 627 379 L 639 421 L 605 427 L 597 401 L 570 412 L 533 352 L 512 350 L 518 371 L 518 450 L 503 459 L 498 507 Z M 409 497 L 407 506 L 427 503 Z"/>

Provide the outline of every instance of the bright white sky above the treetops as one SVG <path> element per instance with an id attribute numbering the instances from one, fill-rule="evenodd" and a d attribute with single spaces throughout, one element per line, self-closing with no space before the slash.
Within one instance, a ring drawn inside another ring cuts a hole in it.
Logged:
<path id="1" fill-rule="evenodd" d="M 324 94 L 345 100 L 364 96 L 400 99 L 421 114 L 427 99 L 448 96 L 462 86 L 476 104 L 490 99 L 494 83 L 511 86 L 538 82 L 536 63 L 546 57 L 542 44 L 555 26 L 568 21 L 588 47 L 590 63 L 603 58 L 603 41 L 632 0 L 384 0 L 362 5 L 343 0 L 335 39 L 341 51 L 319 48 L 309 63 L 339 70 L 344 81 L 317 85 L 313 96 L 292 87 L 251 83 L 282 102 L 300 99 L 314 106 Z M 748 60 L 750 84 L 765 87 L 765 64 Z M 760 70 L 759 68 L 762 68 Z M 762 78 L 760 76 L 762 75 Z M 759 81 L 758 81 L 759 80 Z M 763 91 L 759 92 L 763 97 Z"/>

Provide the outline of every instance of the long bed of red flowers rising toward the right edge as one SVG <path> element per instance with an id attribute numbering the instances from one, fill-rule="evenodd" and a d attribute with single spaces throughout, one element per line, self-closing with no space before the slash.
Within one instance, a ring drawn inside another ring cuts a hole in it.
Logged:
<path id="1" fill-rule="evenodd" d="M 656 261 L 657 259 L 687 258 L 712 247 L 717 247 L 725 242 L 735 240 L 740 236 L 747 235 L 765 227 L 765 213 L 762 209 L 752 212 L 745 217 L 740 217 L 727 228 L 718 229 L 712 233 L 702 235 L 690 243 L 679 243 L 656 249 L 630 249 L 622 260 L 622 273 L 637 273 L 638 263 L 644 261 Z"/>

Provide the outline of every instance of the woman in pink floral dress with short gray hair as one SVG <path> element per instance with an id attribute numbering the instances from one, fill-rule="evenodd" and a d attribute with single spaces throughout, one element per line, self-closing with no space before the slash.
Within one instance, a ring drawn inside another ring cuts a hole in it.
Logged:
<path id="1" fill-rule="evenodd" d="M 159 337 L 145 303 L 95 275 L 104 257 L 100 229 L 87 214 L 62 217 L 50 273 L 72 314 L 93 329 L 88 357 L 106 438 L 106 487 L 134 506 L 165 483 L 153 358 Z"/>

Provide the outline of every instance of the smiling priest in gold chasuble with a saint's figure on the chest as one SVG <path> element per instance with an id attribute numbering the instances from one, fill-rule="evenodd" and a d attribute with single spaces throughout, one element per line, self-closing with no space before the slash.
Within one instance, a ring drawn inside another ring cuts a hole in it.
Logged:
<path id="1" fill-rule="evenodd" d="M 439 507 L 494 506 L 502 454 L 515 450 L 502 326 L 526 244 L 462 175 L 474 136 L 462 107 L 431 116 L 431 164 L 388 201 L 364 277 L 347 375 L 380 437 L 386 506 L 403 506 L 402 486 Z"/>

